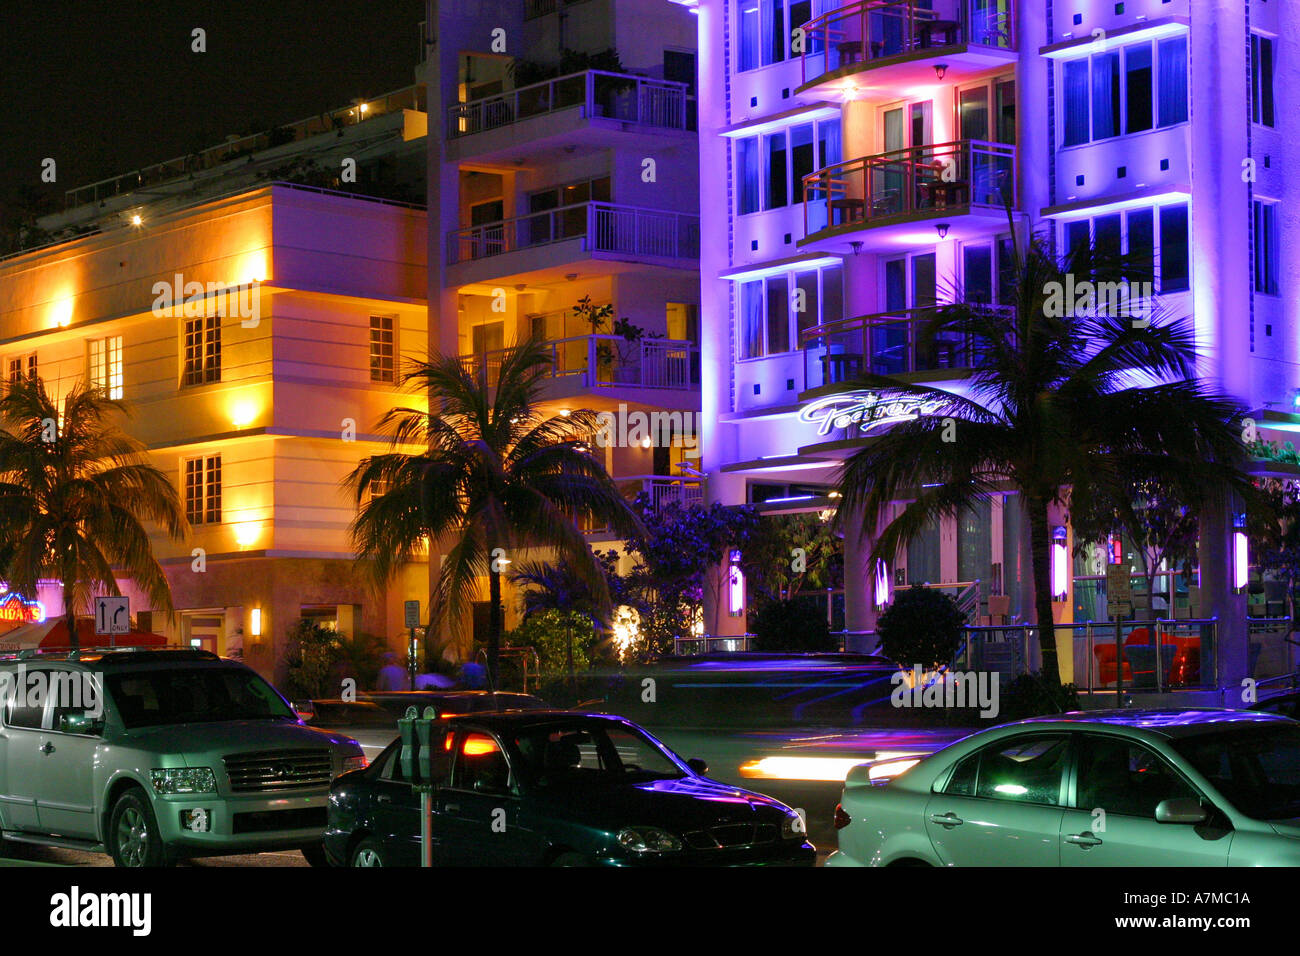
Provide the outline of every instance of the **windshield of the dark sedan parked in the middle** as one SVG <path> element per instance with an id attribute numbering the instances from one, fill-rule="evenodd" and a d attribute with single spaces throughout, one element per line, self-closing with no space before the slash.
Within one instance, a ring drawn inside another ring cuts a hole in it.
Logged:
<path id="1" fill-rule="evenodd" d="M 586 787 L 676 780 L 686 774 L 644 734 L 627 724 L 536 727 L 515 737 L 521 777 L 538 787 Z"/>

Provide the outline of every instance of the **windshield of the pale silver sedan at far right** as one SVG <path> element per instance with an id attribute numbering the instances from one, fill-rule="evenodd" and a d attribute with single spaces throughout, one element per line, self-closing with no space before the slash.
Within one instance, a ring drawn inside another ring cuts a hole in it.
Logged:
<path id="1" fill-rule="evenodd" d="M 1300 817 L 1300 727 L 1245 727 L 1173 747 L 1245 816 Z"/>

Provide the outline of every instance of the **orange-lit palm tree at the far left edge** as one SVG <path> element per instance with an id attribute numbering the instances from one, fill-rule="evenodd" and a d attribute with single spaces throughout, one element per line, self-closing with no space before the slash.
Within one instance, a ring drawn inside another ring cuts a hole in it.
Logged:
<path id="1" fill-rule="evenodd" d="M 172 592 L 146 523 L 169 537 L 188 529 L 176 486 L 144 458 L 144 445 L 114 419 L 126 407 L 75 384 L 62 411 L 38 377 L 0 397 L 0 574 L 12 591 L 62 584 L 72 646 L 77 611 L 94 594 L 118 594 L 114 568 L 153 607 L 172 611 Z"/>

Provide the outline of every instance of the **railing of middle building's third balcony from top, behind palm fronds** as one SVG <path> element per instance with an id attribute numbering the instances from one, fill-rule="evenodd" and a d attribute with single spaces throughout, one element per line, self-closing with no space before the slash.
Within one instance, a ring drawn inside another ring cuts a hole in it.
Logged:
<path id="1" fill-rule="evenodd" d="M 546 342 L 550 358 L 546 377 L 581 381 L 584 388 L 690 389 L 699 385 L 699 349 L 673 338 L 575 336 Z M 507 349 L 462 355 L 465 369 L 497 384 Z"/>

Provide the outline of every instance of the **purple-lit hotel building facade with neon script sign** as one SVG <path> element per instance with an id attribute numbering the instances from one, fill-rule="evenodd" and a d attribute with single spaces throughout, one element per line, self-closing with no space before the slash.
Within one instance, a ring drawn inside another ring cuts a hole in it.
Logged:
<path id="1" fill-rule="evenodd" d="M 920 349 L 918 307 L 997 302 L 1011 229 L 1148 250 L 1191 316 L 1204 377 L 1260 434 L 1300 429 L 1294 276 L 1300 13 L 1268 0 L 701 0 L 703 463 L 708 497 L 835 507 L 854 442 L 819 399 L 855 371 L 958 389 L 959 343 Z M 824 403 L 824 402 L 823 402 Z M 1294 436 L 1291 436 L 1294 437 Z M 1057 623 L 1101 620 L 1106 549 L 1072 557 Z M 1249 665 L 1231 519 L 1169 614 L 1218 617 L 1223 685 Z M 897 584 L 942 584 L 984 622 L 1032 620 L 1014 494 L 941 522 L 876 580 L 845 541 L 844 627 Z M 1069 555 L 1069 557 L 1066 557 Z M 979 587 L 971 587 L 979 581 Z M 1190 585 L 1190 587 L 1188 587 Z M 991 600 L 992 598 L 992 600 Z M 1158 604 L 1157 604 L 1158 607 Z M 722 615 L 742 633 L 744 614 Z M 1063 678 L 1086 663 L 1058 631 Z M 1076 639 L 1075 639 L 1075 643 Z M 1278 662 L 1282 667 L 1283 662 Z M 1078 675 L 1080 679 L 1083 674 Z"/>

